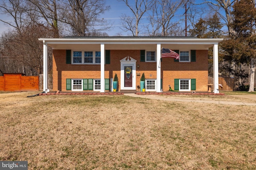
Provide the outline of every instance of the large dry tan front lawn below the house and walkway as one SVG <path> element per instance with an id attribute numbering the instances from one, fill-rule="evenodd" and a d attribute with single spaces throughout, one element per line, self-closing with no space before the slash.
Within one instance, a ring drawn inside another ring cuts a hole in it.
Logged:
<path id="1" fill-rule="evenodd" d="M 256 107 L 0 94 L 0 160 L 29 169 L 255 169 Z"/>

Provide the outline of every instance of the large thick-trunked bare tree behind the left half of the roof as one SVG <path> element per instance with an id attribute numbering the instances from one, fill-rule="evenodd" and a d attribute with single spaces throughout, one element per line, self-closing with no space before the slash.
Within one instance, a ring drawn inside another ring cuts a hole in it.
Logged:
<path id="1" fill-rule="evenodd" d="M 111 27 L 104 18 L 99 18 L 110 9 L 105 0 L 66 0 L 62 4 L 60 20 L 70 25 L 74 35 L 85 36 L 88 31 L 105 31 Z"/>

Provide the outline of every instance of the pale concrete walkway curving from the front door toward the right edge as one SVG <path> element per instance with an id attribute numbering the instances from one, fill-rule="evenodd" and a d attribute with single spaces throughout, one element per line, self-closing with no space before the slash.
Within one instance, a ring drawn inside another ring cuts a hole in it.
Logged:
<path id="1" fill-rule="evenodd" d="M 209 103 L 209 104 L 256 106 L 256 103 L 248 103 L 248 102 L 175 99 L 175 98 L 163 98 L 163 97 L 151 96 L 151 95 L 137 95 L 137 94 L 132 94 L 132 93 L 127 93 L 127 94 L 124 94 L 124 95 L 131 96 L 131 97 L 137 97 L 137 98 L 147 98 L 147 99 L 175 101 L 175 102 L 198 102 L 198 103 Z M 237 97 L 250 96 L 251 97 L 250 99 L 256 100 L 256 95 L 232 95 L 232 96 L 237 96 Z"/>

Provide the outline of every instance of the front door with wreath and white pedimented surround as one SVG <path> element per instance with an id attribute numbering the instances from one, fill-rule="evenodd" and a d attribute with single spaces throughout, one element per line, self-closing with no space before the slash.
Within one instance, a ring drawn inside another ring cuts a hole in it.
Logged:
<path id="1" fill-rule="evenodd" d="M 136 60 L 125 57 L 121 62 L 121 90 L 136 90 Z"/>

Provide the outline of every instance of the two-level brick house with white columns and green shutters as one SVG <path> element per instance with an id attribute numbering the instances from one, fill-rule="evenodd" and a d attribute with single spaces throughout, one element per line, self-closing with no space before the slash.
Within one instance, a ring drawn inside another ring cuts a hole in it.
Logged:
<path id="1" fill-rule="evenodd" d="M 44 45 L 44 91 L 48 89 L 48 47 L 53 50 L 54 91 L 112 91 L 118 75 L 118 91 L 140 91 L 145 75 L 146 91 L 208 91 L 208 48 L 213 47 L 214 84 L 218 93 L 218 43 L 223 39 L 195 37 L 64 37 L 39 38 Z M 180 55 L 162 58 L 161 49 Z M 127 76 L 125 71 L 131 68 Z"/>

